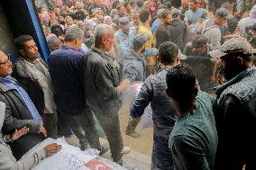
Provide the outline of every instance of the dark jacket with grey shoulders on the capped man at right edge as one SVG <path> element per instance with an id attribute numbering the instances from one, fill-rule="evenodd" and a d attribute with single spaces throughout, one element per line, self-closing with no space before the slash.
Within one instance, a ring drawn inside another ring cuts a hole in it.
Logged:
<path id="1" fill-rule="evenodd" d="M 247 68 L 224 85 L 217 86 L 215 93 L 219 136 L 216 169 L 242 169 L 243 165 L 255 167 L 256 139 L 251 138 L 256 131 L 255 67 Z"/>

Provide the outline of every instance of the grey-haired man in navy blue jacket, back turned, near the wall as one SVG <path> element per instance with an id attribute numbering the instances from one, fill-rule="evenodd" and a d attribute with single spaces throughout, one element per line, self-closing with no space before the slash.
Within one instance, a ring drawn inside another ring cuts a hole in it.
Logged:
<path id="1" fill-rule="evenodd" d="M 62 114 L 68 115 L 71 129 L 79 139 L 81 149 L 102 150 L 90 108 L 86 105 L 82 65 L 85 53 L 80 50 L 84 33 L 78 26 L 71 26 L 65 34 L 64 46 L 50 54 L 49 67 L 56 90 L 56 104 Z M 81 128 L 85 131 L 84 132 Z"/>

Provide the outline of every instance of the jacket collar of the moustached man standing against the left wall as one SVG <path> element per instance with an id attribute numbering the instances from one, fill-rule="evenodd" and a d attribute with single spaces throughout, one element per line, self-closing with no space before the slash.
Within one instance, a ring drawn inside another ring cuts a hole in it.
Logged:
<path id="1" fill-rule="evenodd" d="M 39 58 L 39 60 L 45 67 L 47 67 L 46 63 L 42 60 L 42 58 Z M 27 68 L 26 61 L 24 58 L 22 57 L 17 58 L 14 63 L 13 69 L 16 69 L 14 71 L 16 71 L 19 76 L 31 78 L 32 80 L 35 80 L 35 77 L 32 76 L 32 73 Z"/>

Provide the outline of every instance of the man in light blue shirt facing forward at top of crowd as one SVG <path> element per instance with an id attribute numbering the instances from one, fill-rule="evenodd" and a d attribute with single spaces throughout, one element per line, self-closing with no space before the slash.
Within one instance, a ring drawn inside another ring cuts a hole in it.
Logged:
<path id="1" fill-rule="evenodd" d="M 206 9 L 198 7 L 198 0 L 189 0 L 189 9 L 185 13 L 184 21 L 188 24 L 196 23 L 199 18 L 206 18 Z"/>

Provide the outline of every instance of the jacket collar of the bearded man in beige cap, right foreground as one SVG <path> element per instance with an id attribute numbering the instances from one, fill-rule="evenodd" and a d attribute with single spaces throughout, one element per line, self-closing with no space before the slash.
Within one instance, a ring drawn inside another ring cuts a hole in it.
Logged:
<path id="1" fill-rule="evenodd" d="M 220 96 L 227 87 L 229 87 L 230 85 L 234 85 L 234 84 L 240 82 L 242 80 L 242 78 L 244 78 L 245 76 L 251 76 L 251 74 L 255 74 L 255 72 L 256 72 L 256 67 L 249 67 L 249 68 L 245 69 L 240 74 L 238 74 L 237 76 L 233 77 L 233 79 L 231 79 L 230 81 L 224 83 L 224 85 L 216 86 L 214 88 L 215 94 L 217 96 Z"/>

